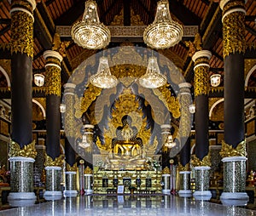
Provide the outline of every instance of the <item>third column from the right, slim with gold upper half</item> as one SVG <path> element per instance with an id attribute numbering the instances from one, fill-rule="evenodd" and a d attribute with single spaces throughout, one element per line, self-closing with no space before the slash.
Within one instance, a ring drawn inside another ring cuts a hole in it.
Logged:
<path id="1" fill-rule="evenodd" d="M 191 196 L 190 190 L 190 139 L 189 134 L 191 131 L 192 115 L 189 112 L 189 105 L 192 104 L 190 89 L 191 84 L 188 82 L 180 83 L 180 94 L 179 101 L 181 105 L 181 118 L 180 118 L 180 140 L 182 149 L 180 151 L 180 163 L 178 166 L 179 170 L 179 196 Z"/>

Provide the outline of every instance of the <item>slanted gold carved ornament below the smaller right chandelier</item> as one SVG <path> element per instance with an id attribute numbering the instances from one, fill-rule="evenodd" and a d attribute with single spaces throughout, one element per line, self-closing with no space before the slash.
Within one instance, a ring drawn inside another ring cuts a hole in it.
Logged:
<path id="1" fill-rule="evenodd" d="M 153 92 L 158 98 L 166 105 L 168 111 L 172 112 L 172 117 L 180 117 L 180 105 L 177 98 L 172 96 L 171 91 L 167 88 L 170 84 L 166 84 L 157 89 L 153 89 Z"/>

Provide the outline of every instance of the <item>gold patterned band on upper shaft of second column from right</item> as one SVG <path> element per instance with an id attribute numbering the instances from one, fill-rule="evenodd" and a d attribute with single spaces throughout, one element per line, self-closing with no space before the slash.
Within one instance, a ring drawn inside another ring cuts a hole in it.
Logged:
<path id="1" fill-rule="evenodd" d="M 195 69 L 195 97 L 209 94 L 209 67 L 197 66 Z"/>

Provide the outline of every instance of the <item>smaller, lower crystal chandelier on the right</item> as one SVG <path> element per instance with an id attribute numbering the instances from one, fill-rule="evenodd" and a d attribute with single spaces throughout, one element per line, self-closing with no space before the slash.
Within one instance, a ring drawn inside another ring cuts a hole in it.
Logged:
<path id="1" fill-rule="evenodd" d="M 156 57 L 149 57 L 147 71 L 143 77 L 139 78 L 140 85 L 144 88 L 159 88 L 166 82 L 166 76 L 160 73 Z"/>

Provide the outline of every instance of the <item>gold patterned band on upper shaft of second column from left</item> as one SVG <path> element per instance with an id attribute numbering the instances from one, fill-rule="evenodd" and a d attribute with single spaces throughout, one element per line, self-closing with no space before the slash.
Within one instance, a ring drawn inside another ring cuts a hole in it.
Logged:
<path id="1" fill-rule="evenodd" d="M 47 88 L 45 94 L 55 94 L 61 97 L 61 69 L 53 65 L 47 65 L 46 71 L 45 82 Z"/>

